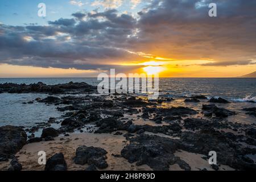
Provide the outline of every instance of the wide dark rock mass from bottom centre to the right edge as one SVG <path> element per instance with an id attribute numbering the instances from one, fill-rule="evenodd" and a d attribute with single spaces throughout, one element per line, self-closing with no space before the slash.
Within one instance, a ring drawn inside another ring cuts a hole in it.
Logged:
<path id="1" fill-rule="evenodd" d="M 256 169 L 254 161 L 246 157 L 247 154 L 256 154 L 255 148 L 244 148 L 236 143 L 236 135 L 221 133 L 210 127 L 196 133 L 185 131 L 181 133 L 180 139 L 141 134 L 129 140 L 130 144 L 121 151 L 123 158 L 130 163 L 137 162 L 137 166 L 147 164 L 154 170 L 168 170 L 172 164 L 179 164 L 180 168 L 189 170 L 189 165 L 174 155 L 177 150 L 206 156 L 209 151 L 216 151 L 218 164 L 240 170 Z"/>

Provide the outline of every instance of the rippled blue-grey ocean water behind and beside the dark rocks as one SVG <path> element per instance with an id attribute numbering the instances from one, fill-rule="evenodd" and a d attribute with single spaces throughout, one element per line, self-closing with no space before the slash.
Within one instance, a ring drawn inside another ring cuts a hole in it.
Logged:
<path id="1" fill-rule="evenodd" d="M 43 82 L 55 85 L 67 82 L 87 82 L 97 85 L 97 78 L 0 78 L 0 83 L 13 82 L 17 84 L 33 84 Z M 246 115 L 241 111 L 245 107 L 256 107 L 256 78 L 160 78 L 160 95 L 175 98 L 170 106 L 181 105 L 200 110 L 200 103 L 185 103 L 184 96 L 203 94 L 210 97 L 222 97 L 231 101 L 230 104 L 221 105 L 240 113 L 238 116 L 229 117 L 232 122 L 256 123 L 255 117 Z M 14 125 L 32 127 L 35 123 L 47 122 L 49 117 L 61 118 L 62 112 L 56 110 L 56 106 L 34 102 L 34 104 L 22 104 L 34 101 L 35 98 L 47 97 L 47 94 L 0 94 L 0 126 Z"/>

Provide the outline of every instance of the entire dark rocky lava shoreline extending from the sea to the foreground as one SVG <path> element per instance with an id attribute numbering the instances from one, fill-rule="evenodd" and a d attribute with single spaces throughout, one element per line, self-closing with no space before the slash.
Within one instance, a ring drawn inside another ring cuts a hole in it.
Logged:
<path id="1" fill-rule="evenodd" d="M 217 165 L 210 166 L 214 170 L 225 169 L 223 166 L 237 170 L 256 169 L 255 161 L 249 157 L 256 154 L 256 126 L 228 121 L 229 117 L 238 113 L 221 107 L 230 102 L 223 98 L 208 100 L 201 95 L 184 98 L 186 103 L 200 104 L 204 101 L 198 111 L 184 106 L 166 106 L 171 105 L 174 99 L 164 96 L 154 101 L 128 94 L 100 96 L 96 94 L 95 86 L 84 82 L 0 84 L 0 93 L 5 92 L 48 93 L 48 97 L 35 98 L 30 104 L 55 105 L 57 110 L 63 112 L 63 119 L 49 118 L 48 122 L 38 123 L 30 129 L 0 127 L 2 170 L 88 171 L 121 168 L 115 160 L 122 162 L 127 170 L 139 167 L 170 170 L 171 166 L 178 166 L 181 170 L 194 169 L 187 160 L 176 155 L 180 151 L 202 155 L 201 160 L 205 163 L 208 163 L 209 151 L 216 151 Z M 256 115 L 255 107 L 243 110 L 251 117 Z M 54 129 L 51 127 L 53 123 L 59 123 L 60 127 Z M 42 135 L 35 137 L 34 133 L 39 129 L 43 129 Z M 75 131 L 76 134 L 73 134 Z M 96 142 L 92 143 L 89 139 Z M 104 142 L 98 143 L 104 139 L 118 141 L 117 146 L 113 149 L 111 143 L 108 147 L 106 143 L 102 144 Z M 47 148 L 47 144 L 52 145 Z M 31 149 L 34 145 L 51 154 L 47 155 L 44 168 L 37 164 L 38 156 Z M 35 164 L 32 168 L 23 159 L 25 157 Z"/>

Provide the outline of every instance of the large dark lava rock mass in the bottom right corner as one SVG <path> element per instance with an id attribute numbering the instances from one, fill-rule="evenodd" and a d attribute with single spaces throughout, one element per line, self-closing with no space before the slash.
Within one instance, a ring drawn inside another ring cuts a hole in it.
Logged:
<path id="1" fill-rule="evenodd" d="M 212 128 L 195 132 L 184 132 L 180 140 L 176 140 L 178 148 L 197 154 L 209 154 L 216 151 L 218 163 L 225 164 L 235 169 L 255 170 L 256 164 L 246 157 L 247 154 L 256 154 L 255 148 L 243 147 L 237 143 L 233 133 L 221 133 Z"/>

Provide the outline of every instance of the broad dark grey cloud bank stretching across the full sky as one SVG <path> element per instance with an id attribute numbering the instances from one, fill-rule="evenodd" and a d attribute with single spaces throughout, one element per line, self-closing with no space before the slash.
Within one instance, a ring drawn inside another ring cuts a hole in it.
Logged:
<path id="1" fill-rule="evenodd" d="M 217 18 L 208 16 L 211 2 L 217 3 Z M 74 18 L 49 21 L 48 26 L 0 24 L 0 63 L 108 69 L 113 62 L 144 60 L 129 50 L 179 60 L 220 60 L 204 66 L 253 64 L 255 7 L 256 1 L 155 0 L 138 19 L 106 10 L 73 13 Z"/>

